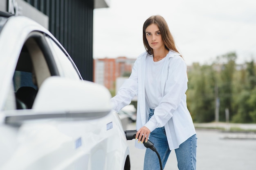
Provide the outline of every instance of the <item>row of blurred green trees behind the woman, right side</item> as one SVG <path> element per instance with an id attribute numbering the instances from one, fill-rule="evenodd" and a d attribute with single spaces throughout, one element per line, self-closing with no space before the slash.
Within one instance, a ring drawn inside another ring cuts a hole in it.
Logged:
<path id="1" fill-rule="evenodd" d="M 187 105 L 195 122 L 215 119 L 215 100 L 219 98 L 219 120 L 225 109 L 236 123 L 256 123 L 256 68 L 254 61 L 236 65 L 236 53 L 228 52 L 211 65 L 194 63 L 188 69 Z"/>

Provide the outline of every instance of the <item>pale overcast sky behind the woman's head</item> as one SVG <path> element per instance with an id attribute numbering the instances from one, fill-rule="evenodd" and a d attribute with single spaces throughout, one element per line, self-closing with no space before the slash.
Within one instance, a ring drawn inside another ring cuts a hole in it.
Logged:
<path id="1" fill-rule="evenodd" d="M 137 58 L 151 15 L 165 18 L 188 65 L 233 51 L 237 63 L 256 61 L 255 0 L 110 0 L 109 8 L 94 9 L 94 59 Z"/>

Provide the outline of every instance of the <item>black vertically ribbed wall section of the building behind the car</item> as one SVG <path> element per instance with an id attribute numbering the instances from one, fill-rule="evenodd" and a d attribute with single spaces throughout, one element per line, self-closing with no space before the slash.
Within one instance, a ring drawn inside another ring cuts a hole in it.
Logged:
<path id="1" fill-rule="evenodd" d="M 60 41 L 80 70 L 93 80 L 94 0 L 25 0 L 49 17 L 49 31 Z"/>

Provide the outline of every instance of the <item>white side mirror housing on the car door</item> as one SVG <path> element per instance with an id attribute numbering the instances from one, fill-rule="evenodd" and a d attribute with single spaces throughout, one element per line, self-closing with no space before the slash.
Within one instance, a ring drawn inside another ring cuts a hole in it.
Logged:
<path id="1" fill-rule="evenodd" d="M 66 113 L 110 111 L 110 98 L 108 89 L 97 83 L 51 76 L 41 85 L 32 109 Z"/>

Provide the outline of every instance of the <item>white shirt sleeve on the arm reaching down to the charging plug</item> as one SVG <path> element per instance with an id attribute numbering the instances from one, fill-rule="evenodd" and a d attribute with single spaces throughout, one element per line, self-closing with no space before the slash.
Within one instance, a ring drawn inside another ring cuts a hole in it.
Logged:
<path id="1" fill-rule="evenodd" d="M 174 57 L 170 62 L 164 96 L 155 108 L 154 115 L 145 124 L 151 132 L 163 127 L 172 118 L 187 90 L 186 63 L 181 57 Z"/>

